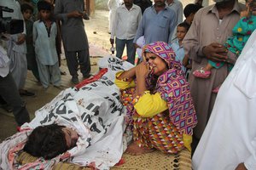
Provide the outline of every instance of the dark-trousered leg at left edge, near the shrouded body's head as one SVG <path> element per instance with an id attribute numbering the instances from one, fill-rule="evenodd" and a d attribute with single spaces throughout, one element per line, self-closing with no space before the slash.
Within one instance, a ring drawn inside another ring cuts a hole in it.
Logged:
<path id="1" fill-rule="evenodd" d="M 13 107 L 15 121 L 18 126 L 21 126 L 25 122 L 30 122 L 25 102 L 20 98 L 14 78 L 10 73 L 6 77 L 0 77 L 0 95 L 8 105 Z"/>

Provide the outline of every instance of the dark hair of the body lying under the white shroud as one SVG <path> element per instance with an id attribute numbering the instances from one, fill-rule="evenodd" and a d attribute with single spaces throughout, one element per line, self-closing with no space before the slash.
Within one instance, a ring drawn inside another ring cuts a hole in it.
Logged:
<path id="1" fill-rule="evenodd" d="M 56 124 L 36 127 L 28 136 L 24 146 L 27 153 L 32 156 L 42 156 L 51 159 L 67 151 L 63 126 Z"/>

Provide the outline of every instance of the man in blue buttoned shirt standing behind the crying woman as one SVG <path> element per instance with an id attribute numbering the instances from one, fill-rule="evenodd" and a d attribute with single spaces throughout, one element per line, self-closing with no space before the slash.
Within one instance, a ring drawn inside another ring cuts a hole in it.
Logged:
<path id="1" fill-rule="evenodd" d="M 154 0 L 154 5 L 146 8 L 143 19 L 137 29 L 133 42 L 136 48 L 137 39 L 144 36 L 146 44 L 150 42 L 171 42 L 172 33 L 177 26 L 176 14 L 166 7 L 166 0 Z"/>

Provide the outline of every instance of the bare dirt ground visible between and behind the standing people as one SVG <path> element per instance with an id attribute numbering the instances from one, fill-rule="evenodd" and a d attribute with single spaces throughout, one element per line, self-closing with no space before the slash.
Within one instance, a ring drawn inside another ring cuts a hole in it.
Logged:
<path id="1" fill-rule="evenodd" d="M 193 3 L 194 0 L 183 0 L 183 7 L 188 3 Z M 111 44 L 109 42 L 110 34 L 108 34 L 108 10 L 96 10 L 93 16 L 90 16 L 90 20 L 84 20 L 84 28 L 90 43 L 90 63 L 91 73 L 95 74 L 98 71 L 96 62 L 99 58 L 97 56 L 106 56 L 111 54 Z M 61 77 L 62 87 L 69 88 L 73 84 L 70 82 L 71 76 L 67 70 L 67 63 L 62 50 L 61 55 L 61 70 L 66 71 L 67 75 Z M 125 55 L 124 52 L 123 55 Z M 82 77 L 79 77 L 80 81 Z M 26 108 L 30 113 L 31 118 L 34 117 L 35 111 L 48 103 L 57 94 L 61 92 L 61 89 L 53 87 L 47 90 L 43 89 L 42 86 L 38 85 L 38 82 L 32 76 L 31 71 L 28 71 L 26 79 L 26 89 L 34 92 L 37 96 L 35 98 L 22 97 L 26 101 Z M 8 113 L 0 109 L 0 142 L 3 139 L 16 133 L 16 124 L 12 113 Z"/>

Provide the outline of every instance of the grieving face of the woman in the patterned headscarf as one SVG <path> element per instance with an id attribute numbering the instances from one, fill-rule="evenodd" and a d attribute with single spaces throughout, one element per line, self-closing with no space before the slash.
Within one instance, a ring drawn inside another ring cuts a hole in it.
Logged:
<path id="1" fill-rule="evenodd" d="M 146 53 L 146 61 L 149 64 L 150 70 L 152 70 L 156 76 L 160 76 L 167 70 L 166 61 L 156 54 Z"/>

